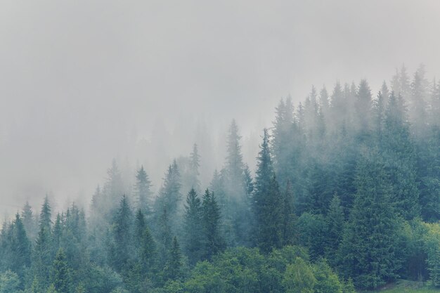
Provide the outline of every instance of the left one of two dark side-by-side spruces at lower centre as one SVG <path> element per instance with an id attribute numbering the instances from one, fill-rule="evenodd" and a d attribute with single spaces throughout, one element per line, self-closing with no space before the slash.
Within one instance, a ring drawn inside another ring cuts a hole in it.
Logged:
<path id="1" fill-rule="evenodd" d="M 186 197 L 183 225 L 186 255 L 194 265 L 202 256 L 202 204 L 194 189 Z"/>

